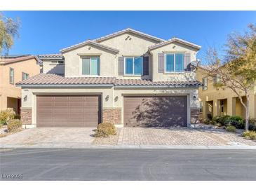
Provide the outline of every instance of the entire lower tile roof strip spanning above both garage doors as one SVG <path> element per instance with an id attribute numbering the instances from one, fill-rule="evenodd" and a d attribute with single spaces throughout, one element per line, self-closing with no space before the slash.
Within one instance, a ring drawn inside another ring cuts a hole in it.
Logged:
<path id="1" fill-rule="evenodd" d="M 38 74 L 16 85 L 149 85 L 187 86 L 201 85 L 199 81 L 151 81 L 141 79 L 116 79 L 115 77 L 63 77 L 56 74 Z"/>

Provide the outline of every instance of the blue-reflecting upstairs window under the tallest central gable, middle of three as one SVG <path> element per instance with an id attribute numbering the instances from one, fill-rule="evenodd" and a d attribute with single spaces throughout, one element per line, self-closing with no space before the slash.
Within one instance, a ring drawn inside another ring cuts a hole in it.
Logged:
<path id="1" fill-rule="evenodd" d="M 126 57 L 124 64 L 125 75 L 142 75 L 142 57 Z"/>

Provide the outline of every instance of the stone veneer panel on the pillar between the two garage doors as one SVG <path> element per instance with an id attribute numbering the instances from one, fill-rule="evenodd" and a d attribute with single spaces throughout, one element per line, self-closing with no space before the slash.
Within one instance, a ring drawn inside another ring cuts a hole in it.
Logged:
<path id="1" fill-rule="evenodd" d="M 102 113 L 103 122 L 121 124 L 121 107 L 104 108 Z"/>

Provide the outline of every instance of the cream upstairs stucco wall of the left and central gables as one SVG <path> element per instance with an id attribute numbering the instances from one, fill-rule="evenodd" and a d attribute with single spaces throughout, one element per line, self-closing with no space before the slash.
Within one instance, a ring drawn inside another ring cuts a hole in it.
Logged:
<path id="1" fill-rule="evenodd" d="M 63 53 L 65 57 L 65 76 L 82 76 L 81 75 L 81 57 L 77 54 L 92 54 L 100 55 L 100 76 L 116 76 L 118 78 L 141 78 L 140 76 L 119 76 L 118 73 L 118 57 L 126 56 L 149 56 L 149 76 L 143 78 L 151 78 L 151 57 L 147 50 L 149 46 L 158 43 L 142 36 L 126 33 L 120 36 L 115 36 L 105 41 L 100 41 L 101 44 L 116 48 L 119 53 L 98 48 L 96 46 L 83 46 L 74 50 L 69 50 Z"/>

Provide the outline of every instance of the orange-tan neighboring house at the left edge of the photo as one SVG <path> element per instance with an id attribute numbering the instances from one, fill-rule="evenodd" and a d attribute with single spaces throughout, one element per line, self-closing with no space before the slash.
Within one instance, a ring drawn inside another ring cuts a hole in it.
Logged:
<path id="1" fill-rule="evenodd" d="M 39 60 L 32 55 L 0 57 L 0 111 L 13 109 L 20 114 L 21 88 L 15 83 L 40 73 Z"/>

